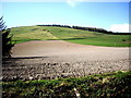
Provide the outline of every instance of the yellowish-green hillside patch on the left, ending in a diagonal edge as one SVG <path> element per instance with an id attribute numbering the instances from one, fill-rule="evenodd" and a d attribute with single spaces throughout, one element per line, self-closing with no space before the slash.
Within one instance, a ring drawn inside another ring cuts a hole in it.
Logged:
<path id="1" fill-rule="evenodd" d="M 29 41 L 29 40 L 58 39 L 56 36 L 50 34 L 48 30 L 39 28 L 39 27 L 34 27 L 34 26 L 12 28 L 11 34 L 13 34 L 12 40 L 16 41 L 16 44 Z"/>

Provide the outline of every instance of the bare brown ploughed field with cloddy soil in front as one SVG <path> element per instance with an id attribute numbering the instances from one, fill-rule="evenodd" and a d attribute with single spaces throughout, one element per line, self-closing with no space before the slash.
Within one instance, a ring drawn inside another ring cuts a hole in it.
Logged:
<path id="1" fill-rule="evenodd" d="M 3 81 L 82 77 L 129 70 L 129 48 L 98 47 L 64 40 L 16 44 L 3 60 Z"/>

